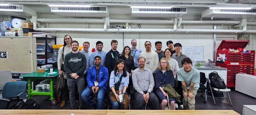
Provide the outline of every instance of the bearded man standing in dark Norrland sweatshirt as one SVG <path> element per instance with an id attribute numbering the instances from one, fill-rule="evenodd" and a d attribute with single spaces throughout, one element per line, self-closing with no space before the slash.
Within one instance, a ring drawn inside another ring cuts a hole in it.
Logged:
<path id="1" fill-rule="evenodd" d="M 76 109 L 75 106 L 75 91 L 76 85 L 79 93 L 79 109 L 84 108 L 84 101 L 81 97 L 84 90 L 84 70 L 86 68 L 86 58 L 84 54 L 78 50 L 78 42 L 76 40 L 71 41 L 72 52 L 65 55 L 64 69 L 67 72 L 69 101 L 71 109 Z"/>

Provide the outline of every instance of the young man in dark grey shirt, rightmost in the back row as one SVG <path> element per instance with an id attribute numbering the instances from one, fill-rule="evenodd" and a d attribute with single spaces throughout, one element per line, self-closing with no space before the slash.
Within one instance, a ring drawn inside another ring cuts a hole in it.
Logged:
<path id="1" fill-rule="evenodd" d="M 182 59 L 187 58 L 187 56 L 180 52 L 181 51 L 180 43 L 174 44 L 174 49 L 175 49 L 176 53 L 172 54 L 172 58 L 175 59 L 176 61 L 178 61 L 179 68 L 182 68 L 181 61 L 182 61 Z"/>

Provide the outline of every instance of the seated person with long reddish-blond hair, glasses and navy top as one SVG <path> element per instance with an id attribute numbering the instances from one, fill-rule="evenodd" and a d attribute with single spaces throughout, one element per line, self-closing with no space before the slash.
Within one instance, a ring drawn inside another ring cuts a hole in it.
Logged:
<path id="1" fill-rule="evenodd" d="M 166 84 L 171 84 L 174 87 L 174 77 L 166 58 L 162 58 L 159 62 L 159 67 L 156 70 L 156 95 L 162 101 L 160 109 L 164 110 L 167 104 L 167 93 L 163 90 Z M 169 97 L 170 110 L 175 110 L 175 100 Z"/>

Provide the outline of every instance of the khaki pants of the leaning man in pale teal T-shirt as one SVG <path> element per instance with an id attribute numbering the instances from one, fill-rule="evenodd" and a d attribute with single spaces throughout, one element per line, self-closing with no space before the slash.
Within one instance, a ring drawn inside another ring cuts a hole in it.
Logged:
<path id="1" fill-rule="evenodd" d="M 188 90 L 189 91 L 189 90 Z M 184 110 L 195 110 L 195 96 L 196 96 L 196 92 L 197 90 L 196 89 L 193 89 L 192 90 L 192 94 L 193 94 L 193 99 L 190 99 L 189 97 L 185 98 L 183 97 L 183 107 L 184 107 Z M 182 91 L 182 93 L 184 93 L 184 89 Z"/>

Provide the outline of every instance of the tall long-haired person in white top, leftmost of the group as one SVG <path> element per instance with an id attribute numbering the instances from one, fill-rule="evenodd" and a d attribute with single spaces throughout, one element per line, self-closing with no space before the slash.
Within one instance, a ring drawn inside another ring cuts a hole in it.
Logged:
<path id="1" fill-rule="evenodd" d="M 58 55 L 59 78 L 63 77 L 63 79 L 67 79 L 67 77 L 66 77 L 67 75 L 66 75 L 66 72 L 64 70 L 64 57 L 65 57 L 66 54 L 72 52 L 71 41 L 72 41 L 71 36 L 70 35 L 65 35 L 64 36 L 64 44 L 59 49 L 59 55 Z M 67 80 L 65 81 L 65 83 L 67 84 Z M 68 96 L 69 96 L 68 86 L 66 85 L 65 88 L 61 88 L 61 89 L 58 86 L 57 100 L 58 100 L 58 102 L 61 102 L 60 107 L 65 106 L 66 99 L 68 99 Z M 62 98 L 62 100 L 60 99 L 60 97 Z"/>

